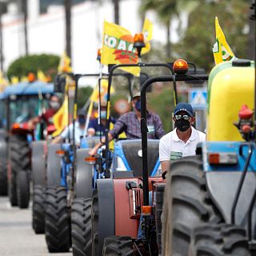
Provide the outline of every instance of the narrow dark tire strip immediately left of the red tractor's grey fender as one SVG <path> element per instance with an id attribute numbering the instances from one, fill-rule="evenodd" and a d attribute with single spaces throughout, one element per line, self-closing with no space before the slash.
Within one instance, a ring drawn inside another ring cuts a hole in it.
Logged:
<path id="1" fill-rule="evenodd" d="M 93 191 L 93 200 L 91 206 L 91 238 L 92 238 L 92 255 L 100 256 L 98 241 L 98 193 Z"/>

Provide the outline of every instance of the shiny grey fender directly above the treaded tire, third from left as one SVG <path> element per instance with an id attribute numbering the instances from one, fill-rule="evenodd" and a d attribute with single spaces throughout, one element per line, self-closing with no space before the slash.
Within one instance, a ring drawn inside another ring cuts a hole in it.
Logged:
<path id="1" fill-rule="evenodd" d="M 76 171 L 74 193 L 75 198 L 91 198 L 93 166 L 86 164 L 85 158 L 89 156 L 90 149 L 78 149 L 76 158 Z"/>

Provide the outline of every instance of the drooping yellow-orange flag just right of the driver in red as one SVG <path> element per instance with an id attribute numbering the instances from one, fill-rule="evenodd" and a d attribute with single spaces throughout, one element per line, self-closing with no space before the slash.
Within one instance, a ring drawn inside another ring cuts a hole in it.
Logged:
<path id="1" fill-rule="evenodd" d="M 62 130 L 64 130 L 64 128 L 68 126 L 69 116 L 68 116 L 68 96 L 67 95 L 65 96 L 60 109 L 57 111 L 56 114 L 54 114 L 53 122 L 56 129 L 53 133 L 53 137 L 61 134 Z"/>

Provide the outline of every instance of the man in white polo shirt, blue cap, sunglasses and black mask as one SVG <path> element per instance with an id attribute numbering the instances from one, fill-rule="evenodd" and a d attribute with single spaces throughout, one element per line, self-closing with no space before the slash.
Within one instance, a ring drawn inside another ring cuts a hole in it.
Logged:
<path id="1" fill-rule="evenodd" d="M 195 130 L 193 108 L 189 103 L 178 103 L 174 109 L 175 129 L 160 139 L 159 160 L 162 173 L 169 170 L 170 162 L 195 155 L 196 146 L 206 140 L 206 134 Z"/>

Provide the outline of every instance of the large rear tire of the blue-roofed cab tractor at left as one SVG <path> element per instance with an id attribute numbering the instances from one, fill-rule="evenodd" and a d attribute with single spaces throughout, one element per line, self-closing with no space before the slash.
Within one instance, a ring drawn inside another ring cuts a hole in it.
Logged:
<path id="1" fill-rule="evenodd" d="M 17 196 L 27 194 L 27 191 L 30 190 L 29 187 L 25 187 L 25 175 L 21 174 L 18 178 L 18 172 L 26 172 L 29 178 L 29 182 L 26 182 L 26 186 L 30 186 L 30 148 L 26 140 L 26 136 L 14 134 L 10 137 L 10 146 L 9 146 L 9 155 L 8 161 L 10 163 L 10 188 L 9 198 L 12 206 L 18 205 Z M 22 178 L 21 178 L 22 177 Z M 22 179 L 22 187 L 18 187 L 20 184 L 17 184 L 17 181 Z M 19 191 L 19 192 L 18 192 Z M 26 197 L 27 198 L 27 197 Z M 22 202 L 22 208 L 23 202 Z"/>

